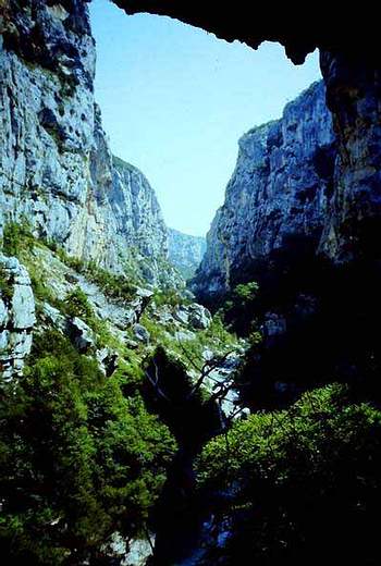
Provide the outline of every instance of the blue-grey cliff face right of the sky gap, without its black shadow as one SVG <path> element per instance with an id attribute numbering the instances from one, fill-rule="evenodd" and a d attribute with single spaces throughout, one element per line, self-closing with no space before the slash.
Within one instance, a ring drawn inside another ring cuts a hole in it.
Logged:
<path id="1" fill-rule="evenodd" d="M 324 86 L 316 83 L 286 106 L 281 120 L 241 138 L 195 290 L 212 298 L 253 279 L 282 249 L 296 249 L 298 242 L 317 248 L 332 196 L 334 161 Z"/>

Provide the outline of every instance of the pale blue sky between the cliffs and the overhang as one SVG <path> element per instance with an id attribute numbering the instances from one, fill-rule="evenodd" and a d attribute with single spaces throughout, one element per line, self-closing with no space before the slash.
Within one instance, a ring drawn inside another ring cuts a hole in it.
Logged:
<path id="1" fill-rule="evenodd" d="M 112 151 L 145 173 L 169 226 L 205 235 L 238 138 L 320 78 L 317 53 L 295 66 L 276 44 L 254 51 L 168 17 L 127 16 L 108 0 L 90 11 Z"/>

